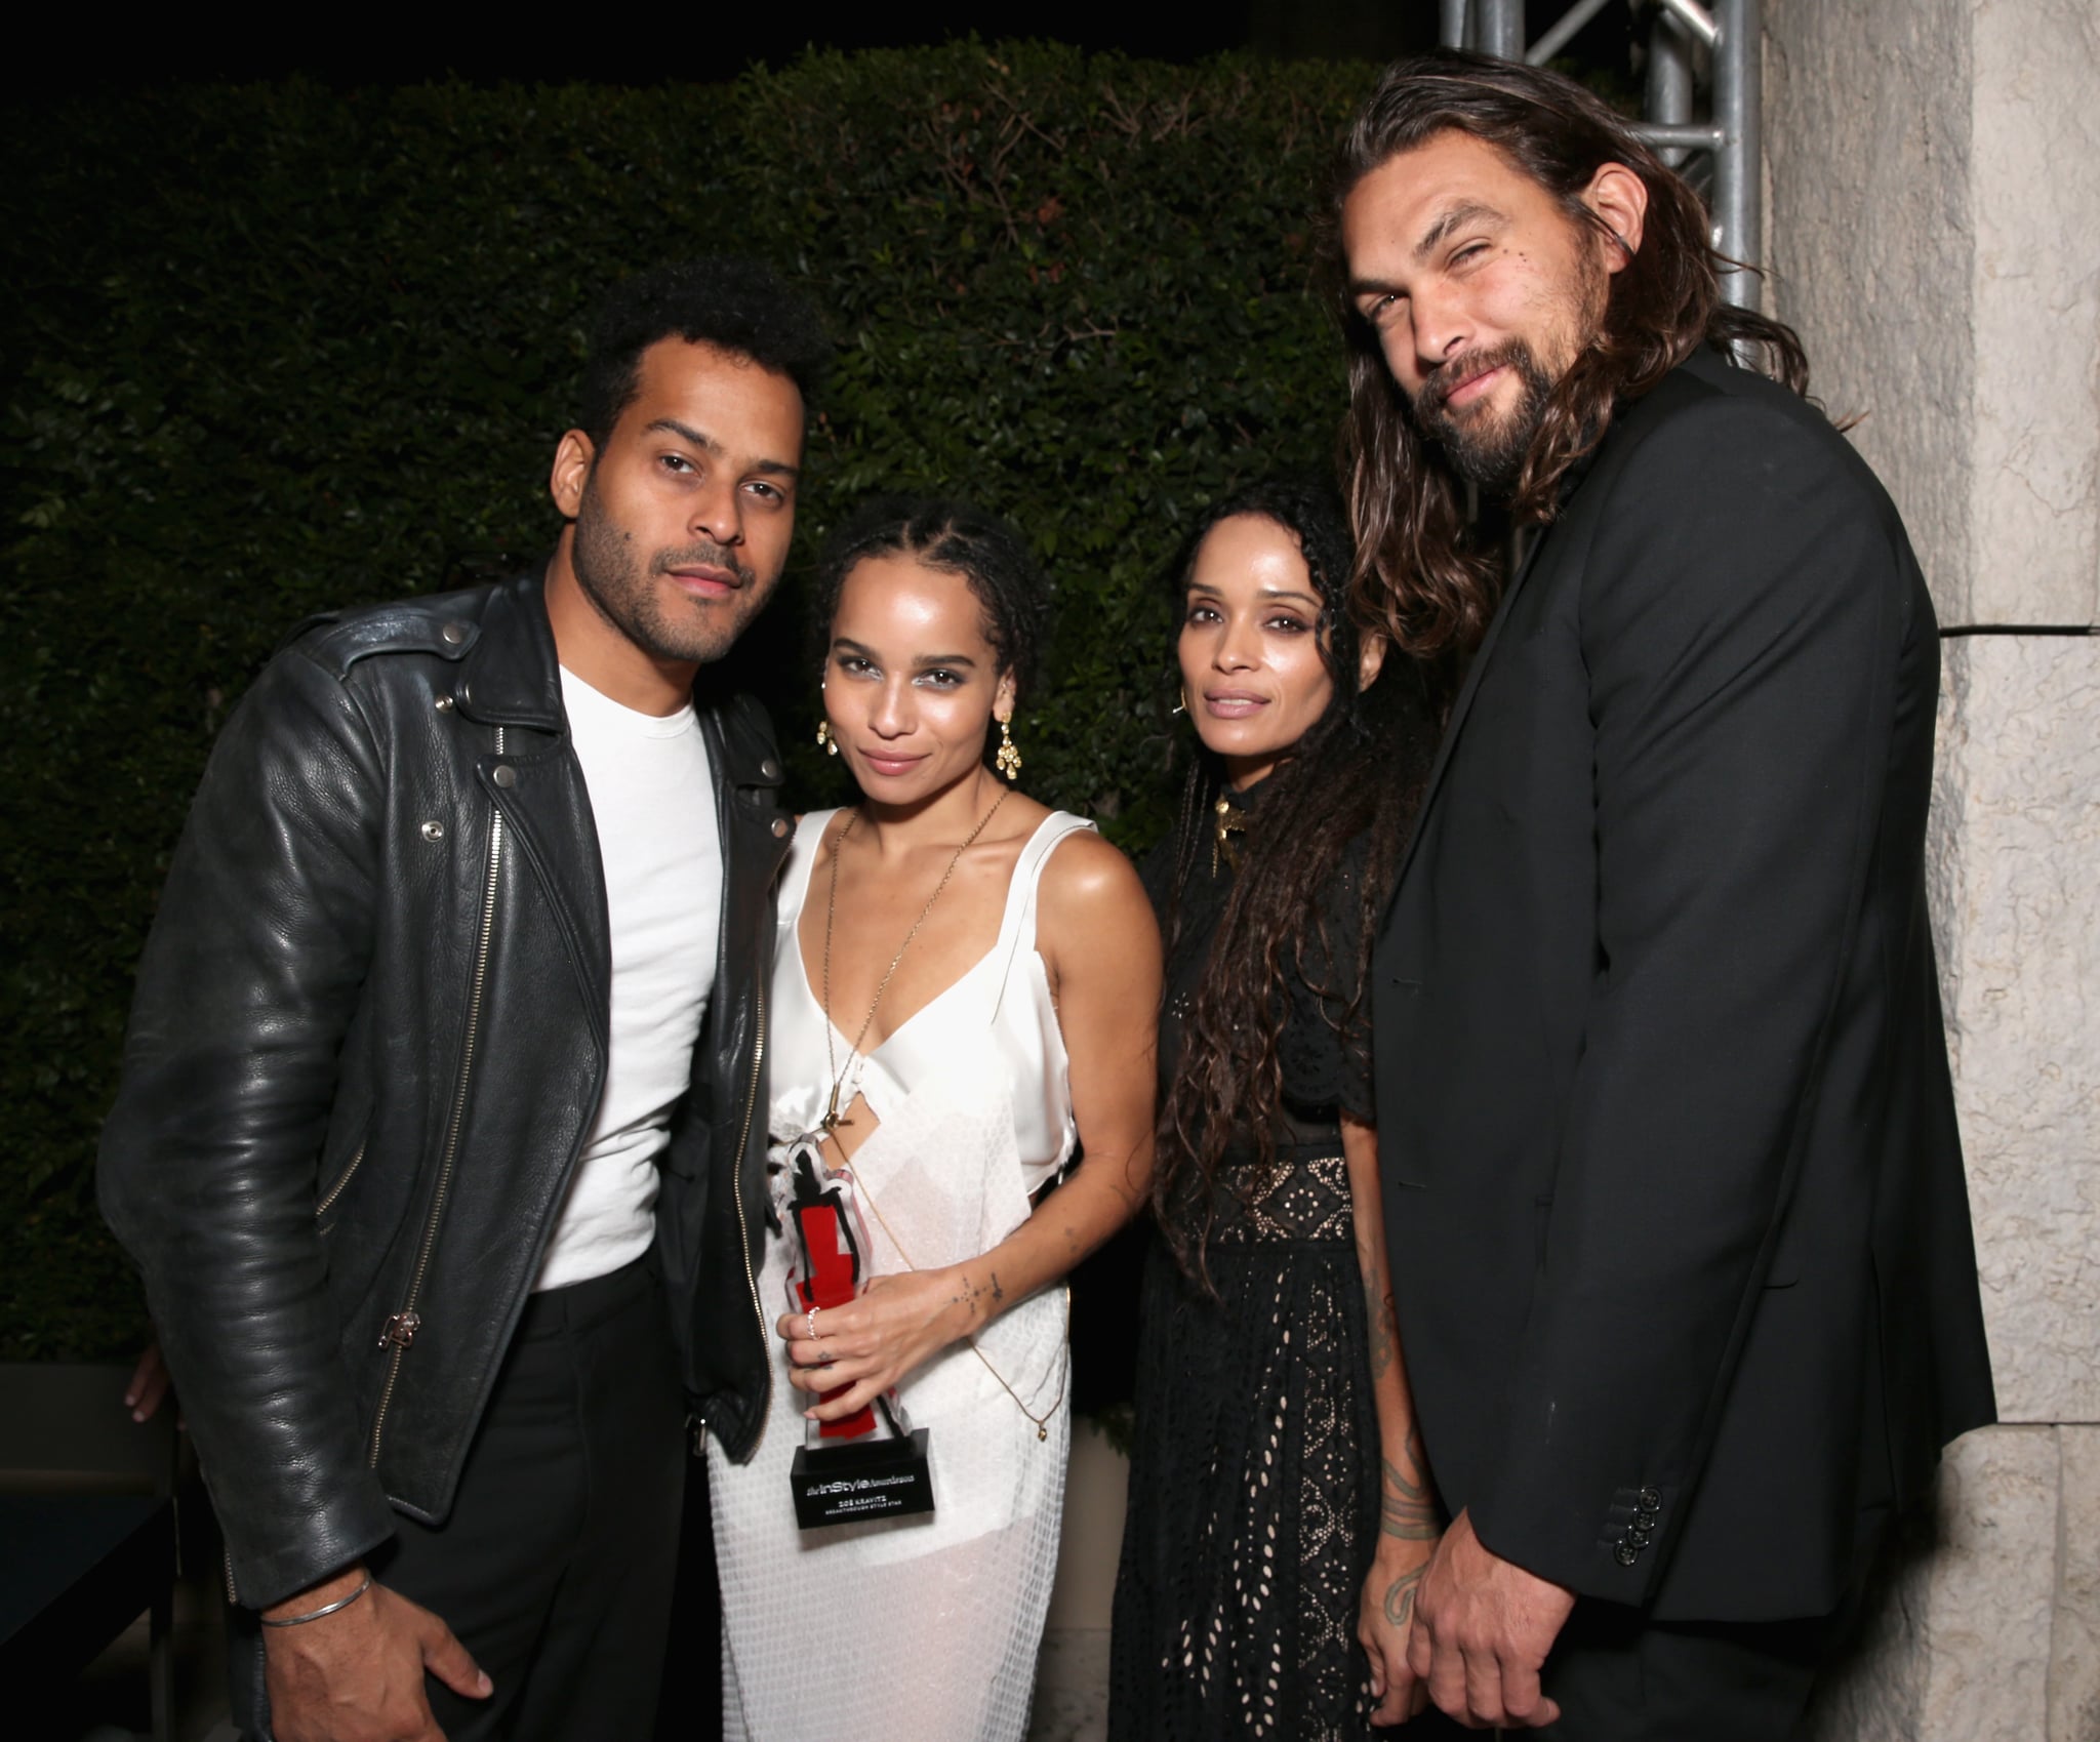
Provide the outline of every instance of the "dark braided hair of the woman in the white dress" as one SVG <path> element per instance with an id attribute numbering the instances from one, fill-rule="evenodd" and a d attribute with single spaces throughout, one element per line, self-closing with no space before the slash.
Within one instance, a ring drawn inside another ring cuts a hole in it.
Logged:
<path id="1" fill-rule="evenodd" d="M 911 556 L 928 569 L 962 575 L 985 615 L 985 640 L 1000 672 L 1014 674 L 1014 697 L 1033 693 L 1050 638 L 1050 577 L 1018 531 L 951 497 L 869 497 L 823 541 L 811 596 L 819 646 L 832 642 L 846 575 L 869 556 Z"/>

